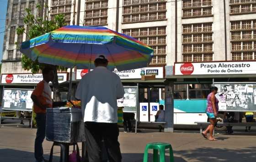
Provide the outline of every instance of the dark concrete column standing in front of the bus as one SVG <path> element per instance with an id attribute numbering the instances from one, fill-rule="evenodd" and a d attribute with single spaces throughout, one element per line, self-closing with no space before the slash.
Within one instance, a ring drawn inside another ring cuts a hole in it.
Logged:
<path id="1" fill-rule="evenodd" d="M 165 132 L 173 132 L 173 81 L 165 84 Z"/>

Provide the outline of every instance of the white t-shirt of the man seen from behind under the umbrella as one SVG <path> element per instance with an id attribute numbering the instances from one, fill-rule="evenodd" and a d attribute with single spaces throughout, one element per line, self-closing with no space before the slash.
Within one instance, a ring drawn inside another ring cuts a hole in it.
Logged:
<path id="1" fill-rule="evenodd" d="M 81 99 L 84 122 L 117 123 L 117 98 L 123 95 L 118 75 L 105 67 L 96 67 L 81 79 L 75 97 Z"/>

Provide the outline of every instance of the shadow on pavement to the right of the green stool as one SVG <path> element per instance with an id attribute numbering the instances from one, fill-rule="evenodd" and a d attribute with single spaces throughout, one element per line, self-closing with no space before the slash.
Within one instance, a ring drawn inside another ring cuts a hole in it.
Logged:
<path id="1" fill-rule="evenodd" d="M 199 147 L 174 153 L 188 161 L 197 162 L 255 162 L 256 159 L 256 147 L 245 147 L 244 149 Z"/>

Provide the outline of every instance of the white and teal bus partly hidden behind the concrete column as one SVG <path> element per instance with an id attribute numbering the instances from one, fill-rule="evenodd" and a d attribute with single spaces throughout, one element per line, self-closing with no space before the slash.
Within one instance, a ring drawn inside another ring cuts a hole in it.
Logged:
<path id="1" fill-rule="evenodd" d="M 207 96 L 212 84 L 174 84 L 174 124 L 205 122 Z M 164 88 L 139 88 L 139 120 L 155 121 L 159 105 L 165 105 Z"/>

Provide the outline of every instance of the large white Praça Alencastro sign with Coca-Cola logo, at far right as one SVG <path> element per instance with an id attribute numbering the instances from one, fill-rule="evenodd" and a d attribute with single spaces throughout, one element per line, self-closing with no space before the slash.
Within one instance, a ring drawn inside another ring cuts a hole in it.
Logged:
<path id="1" fill-rule="evenodd" d="M 256 74 L 256 62 L 175 63 L 175 75 Z"/>

